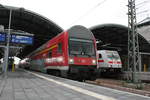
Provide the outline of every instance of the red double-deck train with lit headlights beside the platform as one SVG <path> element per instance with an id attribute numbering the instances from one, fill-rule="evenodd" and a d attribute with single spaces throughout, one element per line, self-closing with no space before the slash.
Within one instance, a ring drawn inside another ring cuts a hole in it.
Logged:
<path id="1" fill-rule="evenodd" d="M 91 31 L 74 26 L 32 52 L 30 69 L 73 79 L 94 79 L 97 69 L 96 40 Z"/>

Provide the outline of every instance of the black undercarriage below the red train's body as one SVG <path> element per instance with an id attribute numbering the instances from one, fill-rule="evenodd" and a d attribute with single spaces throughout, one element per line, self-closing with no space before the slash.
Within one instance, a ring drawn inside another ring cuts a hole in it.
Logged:
<path id="1" fill-rule="evenodd" d="M 78 81 L 95 80 L 97 76 L 96 66 L 70 66 L 69 70 L 47 69 L 47 74 Z"/>

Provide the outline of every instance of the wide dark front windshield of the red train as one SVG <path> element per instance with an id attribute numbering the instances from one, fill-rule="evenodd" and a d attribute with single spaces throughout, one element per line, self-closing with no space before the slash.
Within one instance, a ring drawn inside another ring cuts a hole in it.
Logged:
<path id="1" fill-rule="evenodd" d="M 69 40 L 69 54 L 82 57 L 95 56 L 94 42 L 92 40 L 71 38 Z"/>

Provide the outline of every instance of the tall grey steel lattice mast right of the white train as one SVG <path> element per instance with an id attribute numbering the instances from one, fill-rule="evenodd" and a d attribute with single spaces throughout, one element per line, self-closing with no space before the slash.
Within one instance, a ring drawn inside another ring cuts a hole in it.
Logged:
<path id="1" fill-rule="evenodd" d="M 128 0 L 128 28 L 128 71 L 132 71 L 132 81 L 138 82 L 136 72 L 140 70 L 140 58 L 135 0 Z"/>

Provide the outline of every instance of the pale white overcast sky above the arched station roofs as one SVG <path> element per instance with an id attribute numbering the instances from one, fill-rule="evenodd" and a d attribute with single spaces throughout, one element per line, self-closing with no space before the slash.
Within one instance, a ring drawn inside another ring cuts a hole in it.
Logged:
<path id="1" fill-rule="evenodd" d="M 140 1 L 143 0 L 137 0 L 138 3 Z M 0 3 L 36 12 L 63 29 L 73 25 L 92 27 L 105 23 L 128 25 L 128 0 L 0 0 Z M 138 12 L 144 9 L 141 6 Z M 138 20 L 146 16 L 148 14 L 139 14 Z"/>

